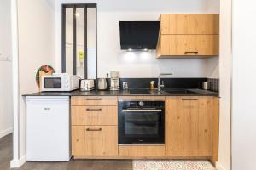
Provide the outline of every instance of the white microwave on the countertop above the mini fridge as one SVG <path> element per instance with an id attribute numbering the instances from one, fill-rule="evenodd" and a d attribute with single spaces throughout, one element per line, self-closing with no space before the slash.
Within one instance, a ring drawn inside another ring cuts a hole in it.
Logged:
<path id="1" fill-rule="evenodd" d="M 79 89 L 79 77 L 67 73 L 45 75 L 41 77 L 42 92 L 70 92 Z"/>

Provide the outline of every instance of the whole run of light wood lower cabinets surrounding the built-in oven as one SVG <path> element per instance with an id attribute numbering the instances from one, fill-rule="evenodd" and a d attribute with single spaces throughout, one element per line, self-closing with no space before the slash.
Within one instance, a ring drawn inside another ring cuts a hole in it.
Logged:
<path id="1" fill-rule="evenodd" d="M 143 96 L 138 98 L 148 99 Z M 166 141 L 162 145 L 119 145 L 117 106 L 105 105 L 117 102 L 106 99 L 101 99 L 105 100 L 99 103 L 101 105 L 92 103 L 90 99 L 90 105 L 80 105 L 78 101 L 83 98 L 73 99 L 75 104 L 79 104 L 72 106 L 72 155 L 75 158 L 210 159 L 212 163 L 218 161 L 218 98 L 167 96 Z"/>

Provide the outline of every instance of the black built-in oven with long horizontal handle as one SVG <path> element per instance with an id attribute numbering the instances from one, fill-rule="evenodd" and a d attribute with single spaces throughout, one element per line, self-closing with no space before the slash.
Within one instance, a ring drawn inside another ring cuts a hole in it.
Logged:
<path id="1" fill-rule="evenodd" d="M 119 101 L 119 144 L 164 143 L 164 101 Z"/>

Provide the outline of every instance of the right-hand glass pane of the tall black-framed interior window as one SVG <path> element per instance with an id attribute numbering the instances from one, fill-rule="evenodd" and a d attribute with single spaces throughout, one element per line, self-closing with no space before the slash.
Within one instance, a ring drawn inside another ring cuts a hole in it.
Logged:
<path id="1" fill-rule="evenodd" d="M 96 8 L 87 8 L 87 76 L 96 78 Z"/>

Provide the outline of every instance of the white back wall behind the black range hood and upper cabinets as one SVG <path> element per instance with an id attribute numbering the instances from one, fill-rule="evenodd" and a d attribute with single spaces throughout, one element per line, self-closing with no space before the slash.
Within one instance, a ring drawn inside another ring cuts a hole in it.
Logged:
<path id="1" fill-rule="evenodd" d="M 56 2 L 58 31 L 61 30 L 61 3 L 97 3 L 98 77 L 106 76 L 109 71 L 120 71 L 121 77 L 157 77 L 160 72 L 173 72 L 173 77 L 212 77 L 212 74 L 218 77 L 214 59 L 155 59 L 155 52 L 130 53 L 119 47 L 120 20 L 158 20 L 161 13 L 218 13 L 216 0 L 61 0 Z M 61 32 L 56 36 L 56 66 L 61 71 Z"/>

